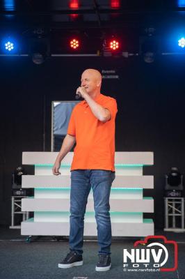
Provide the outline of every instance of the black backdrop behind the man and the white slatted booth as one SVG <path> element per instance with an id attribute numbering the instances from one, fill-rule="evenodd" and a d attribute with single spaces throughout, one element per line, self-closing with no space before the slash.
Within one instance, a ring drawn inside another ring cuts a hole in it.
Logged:
<path id="1" fill-rule="evenodd" d="M 51 150 L 51 101 L 74 100 L 86 68 L 115 70 L 119 79 L 104 79 L 102 93 L 118 101 L 116 151 L 154 151 L 156 228 L 163 227 L 164 174 L 184 173 L 183 56 L 161 56 L 154 63 L 140 57 L 53 57 L 40 66 L 29 57 L 1 57 L 0 224 L 10 225 L 11 173 L 22 151 Z M 146 215 L 146 217 L 148 217 Z"/>

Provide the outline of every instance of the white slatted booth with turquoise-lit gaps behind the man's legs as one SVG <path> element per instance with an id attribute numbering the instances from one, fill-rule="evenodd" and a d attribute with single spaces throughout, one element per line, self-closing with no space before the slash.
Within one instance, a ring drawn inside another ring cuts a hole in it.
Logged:
<path id="1" fill-rule="evenodd" d="M 52 174 L 57 152 L 24 152 L 23 165 L 35 165 L 35 175 L 22 176 L 22 188 L 34 188 L 34 197 L 22 199 L 22 211 L 34 211 L 34 218 L 22 222 L 22 235 L 68 236 L 70 232 L 70 165 L 73 153 L 65 156 L 61 175 Z M 153 176 L 143 176 L 143 166 L 153 165 L 152 152 L 116 152 L 115 180 L 111 188 L 113 236 L 154 234 L 152 197 L 143 197 L 143 188 L 154 188 Z M 84 236 L 97 236 L 97 225 L 90 192 L 85 216 Z"/>

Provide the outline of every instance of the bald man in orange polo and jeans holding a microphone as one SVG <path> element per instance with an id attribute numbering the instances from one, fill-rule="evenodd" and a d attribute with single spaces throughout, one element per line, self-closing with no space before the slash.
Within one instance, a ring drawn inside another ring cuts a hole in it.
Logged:
<path id="1" fill-rule="evenodd" d="M 61 174 L 61 161 L 72 149 L 70 191 L 70 252 L 58 264 L 60 268 L 83 264 L 83 227 L 90 189 L 93 190 L 99 260 L 96 271 L 111 269 L 111 219 L 109 197 L 115 179 L 115 99 L 100 93 L 102 75 L 98 70 L 87 69 L 81 75 L 77 93 L 83 100 L 70 117 L 67 135 L 63 140 L 53 167 L 53 174 Z M 88 220 L 87 220 L 88 222 Z M 91 227 L 91 223 L 88 224 Z M 93 231 L 93 227 L 91 229 Z"/>

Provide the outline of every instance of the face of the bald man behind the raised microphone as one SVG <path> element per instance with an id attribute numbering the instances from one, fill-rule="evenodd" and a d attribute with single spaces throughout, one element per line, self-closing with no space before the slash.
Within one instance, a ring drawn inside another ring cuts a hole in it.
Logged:
<path id="1" fill-rule="evenodd" d="M 95 75 L 93 75 L 93 73 L 90 73 L 88 70 L 86 70 L 81 75 L 81 87 L 84 87 L 88 94 L 95 93 L 99 87 L 99 81 Z"/>

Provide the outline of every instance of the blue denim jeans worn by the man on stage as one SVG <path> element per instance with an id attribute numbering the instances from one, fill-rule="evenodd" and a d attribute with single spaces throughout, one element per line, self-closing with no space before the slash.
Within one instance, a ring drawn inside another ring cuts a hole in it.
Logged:
<path id="1" fill-rule="evenodd" d="M 90 188 L 93 189 L 99 253 L 111 254 L 109 197 L 115 172 L 102 169 L 75 169 L 71 172 L 70 250 L 83 253 L 84 215 Z"/>

